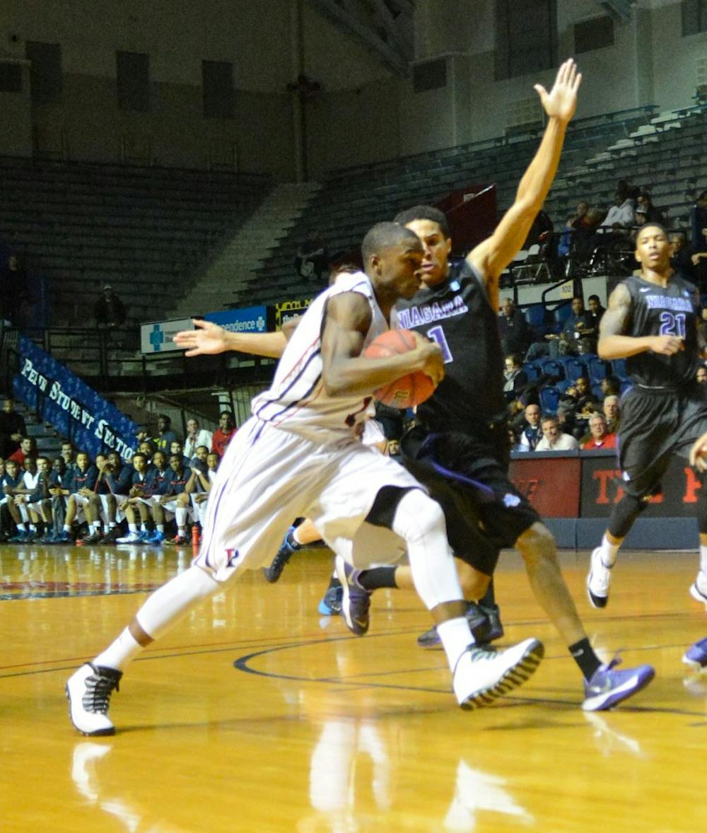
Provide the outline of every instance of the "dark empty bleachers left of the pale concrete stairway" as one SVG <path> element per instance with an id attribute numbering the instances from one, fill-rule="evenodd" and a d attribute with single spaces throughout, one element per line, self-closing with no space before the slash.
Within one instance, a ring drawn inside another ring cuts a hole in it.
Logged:
<path id="1" fill-rule="evenodd" d="M 103 282 L 155 320 L 250 216 L 270 177 L 0 157 L 0 235 L 47 278 L 53 326 L 85 326 Z"/>

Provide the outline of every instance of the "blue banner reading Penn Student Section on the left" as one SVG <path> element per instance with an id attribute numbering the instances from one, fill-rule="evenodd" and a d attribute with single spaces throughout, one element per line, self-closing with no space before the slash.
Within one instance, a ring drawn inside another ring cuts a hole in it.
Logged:
<path id="1" fill-rule="evenodd" d="M 17 399 L 90 456 L 117 451 L 123 460 L 132 458 L 137 448 L 132 419 L 30 339 L 21 336 L 19 348 L 20 370 L 12 378 Z"/>

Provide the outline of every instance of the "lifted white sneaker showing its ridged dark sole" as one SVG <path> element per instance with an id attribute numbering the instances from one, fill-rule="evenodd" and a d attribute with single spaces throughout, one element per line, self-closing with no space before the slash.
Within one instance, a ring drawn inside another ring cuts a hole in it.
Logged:
<path id="1" fill-rule="evenodd" d="M 545 655 L 542 642 L 526 639 L 504 651 L 470 645 L 456 662 L 453 687 L 462 709 L 488 706 L 522 685 Z"/>

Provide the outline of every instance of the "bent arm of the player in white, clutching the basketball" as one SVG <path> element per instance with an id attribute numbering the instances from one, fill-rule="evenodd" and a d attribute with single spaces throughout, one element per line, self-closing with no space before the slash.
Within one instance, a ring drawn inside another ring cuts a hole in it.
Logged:
<path id="1" fill-rule="evenodd" d="M 321 337 L 322 377 L 331 396 L 366 395 L 406 373 L 421 370 L 438 385 L 445 375 L 441 349 L 415 333 L 414 350 L 386 358 L 361 356 L 371 326 L 371 307 L 357 292 L 343 292 L 326 305 Z"/>

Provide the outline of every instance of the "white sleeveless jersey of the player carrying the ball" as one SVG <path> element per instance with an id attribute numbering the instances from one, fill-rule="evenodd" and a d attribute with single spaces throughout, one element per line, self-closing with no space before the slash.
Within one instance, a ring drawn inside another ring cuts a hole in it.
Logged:
<path id="1" fill-rule="evenodd" d="M 341 292 L 358 292 L 371 306 L 371 327 L 363 348 L 389 329 L 378 307 L 371 282 L 363 272 L 340 277 L 333 287 L 317 296 L 307 309 L 277 366 L 270 390 L 251 402 L 253 416 L 319 442 L 351 436 L 356 423 L 366 416 L 371 397 L 329 397 L 322 382 L 321 331 L 326 302 Z"/>

